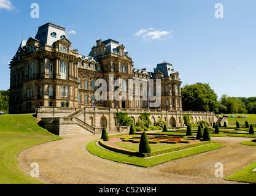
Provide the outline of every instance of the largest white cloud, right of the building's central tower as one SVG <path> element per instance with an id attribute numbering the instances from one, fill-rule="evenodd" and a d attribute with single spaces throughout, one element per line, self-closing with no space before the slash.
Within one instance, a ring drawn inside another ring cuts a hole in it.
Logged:
<path id="1" fill-rule="evenodd" d="M 141 29 L 138 32 L 135 33 L 136 36 L 142 36 L 142 39 L 145 41 L 150 41 L 150 40 L 166 40 L 166 38 L 171 38 L 170 34 L 172 31 L 161 31 L 161 30 L 156 30 L 153 28 L 148 28 L 148 29 Z"/>

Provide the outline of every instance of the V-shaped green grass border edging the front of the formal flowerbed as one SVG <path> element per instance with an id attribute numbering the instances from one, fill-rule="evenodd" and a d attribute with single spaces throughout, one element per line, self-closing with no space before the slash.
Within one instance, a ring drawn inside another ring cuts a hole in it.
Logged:
<path id="1" fill-rule="evenodd" d="M 219 149 L 223 147 L 224 145 L 220 145 L 219 143 L 211 143 L 204 146 L 196 146 L 194 148 L 184 149 L 182 151 L 162 154 L 160 156 L 149 157 L 147 159 L 107 151 L 97 146 L 96 140 L 88 143 L 87 150 L 91 154 L 94 154 L 95 156 L 101 157 L 103 159 L 108 159 L 123 164 L 136 165 L 139 167 L 150 167 L 153 165 L 161 164 L 163 162 L 168 162 L 169 160 L 180 159 L 182 157 L 192 156 L 194 154 L 204 153 L 206 151 L 212 151 L 214 149 Z"/>

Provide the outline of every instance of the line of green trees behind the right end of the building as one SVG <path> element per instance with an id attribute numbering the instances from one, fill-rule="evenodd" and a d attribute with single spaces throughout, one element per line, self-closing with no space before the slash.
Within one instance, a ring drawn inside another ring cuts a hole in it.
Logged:
<path id="1" fill-rule="evenodd" d="M 217 94 L 209 84 L 185 85 L 182 91 L 182 109 L 185 111 L 214 111 L 215 113 L 256 113 L 256 97 L 230 97 Z"/>

